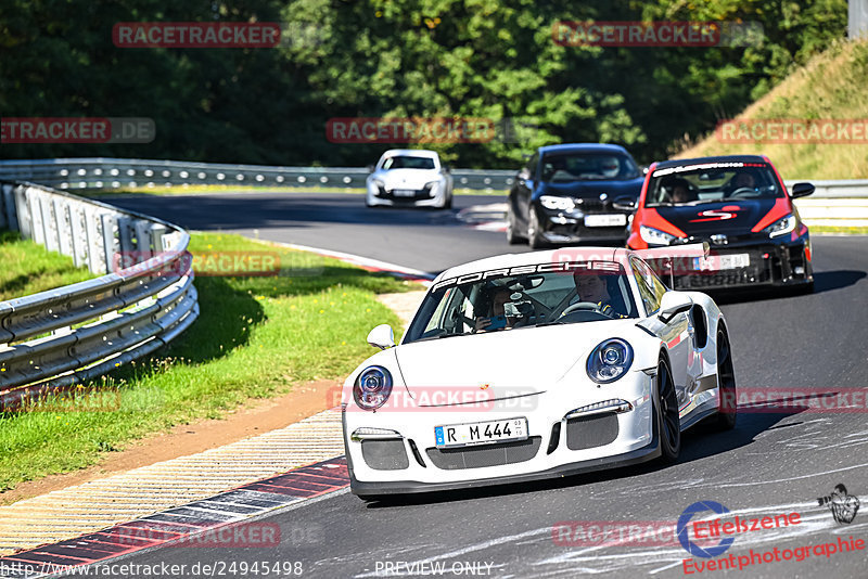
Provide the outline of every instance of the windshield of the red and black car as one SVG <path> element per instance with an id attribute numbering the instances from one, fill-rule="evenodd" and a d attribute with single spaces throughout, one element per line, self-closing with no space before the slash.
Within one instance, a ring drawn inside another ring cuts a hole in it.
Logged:
<path id="1" fill-rule="evenodd" d="M 648 183 L 646 206 L 738 202 L 783 194 L 766 164 L 712 163 L 655 170 Z"/>

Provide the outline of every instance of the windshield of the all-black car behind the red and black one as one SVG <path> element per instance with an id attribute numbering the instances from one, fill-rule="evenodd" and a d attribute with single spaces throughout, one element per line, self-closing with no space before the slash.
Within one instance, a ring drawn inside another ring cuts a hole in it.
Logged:
<path id="1" fill-rule="evenodd" d="M 540 162 L 540 179 L 552 183 L 625 181 L 640 176 L 629 156 L 611 153 L 549 153 Z"/>

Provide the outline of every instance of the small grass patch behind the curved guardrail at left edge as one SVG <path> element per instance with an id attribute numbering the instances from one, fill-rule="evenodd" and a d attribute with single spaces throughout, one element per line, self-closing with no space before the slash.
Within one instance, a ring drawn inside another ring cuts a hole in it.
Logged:
<path id="1" fill-rule="evenodd" d="M 0 301 L 95 278 L 73 258 L 49 252 L 13 231 L 0 231 Z"/>

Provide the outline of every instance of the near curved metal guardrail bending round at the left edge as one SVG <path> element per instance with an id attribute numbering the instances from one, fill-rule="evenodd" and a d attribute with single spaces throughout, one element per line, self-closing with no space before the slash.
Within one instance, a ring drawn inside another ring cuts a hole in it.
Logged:
<path id="1" fill-rule="evenodd" d="M 146 356 L 199 316 L 190 235 L 171 223 L 0 181 L 0 227 L 103 273 L 0 301 L 0 410 Z"/>

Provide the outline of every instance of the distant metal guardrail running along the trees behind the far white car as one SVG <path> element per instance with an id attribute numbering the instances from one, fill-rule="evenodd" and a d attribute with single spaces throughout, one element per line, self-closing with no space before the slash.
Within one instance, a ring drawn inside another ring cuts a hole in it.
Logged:
<path id="1" fill-rule="evenodd" d="M 456 188 L 506 190 L 515 171 L 454 169 Z M 64 158 L 0 160 L 0 179 L 65 190 L 178 185 L 330 186 L 360 189 L 363 167 L 267 167 L 177 160 Z"/>

